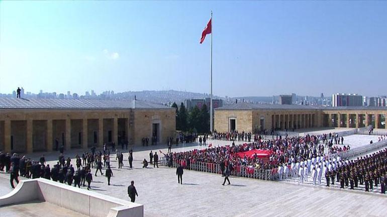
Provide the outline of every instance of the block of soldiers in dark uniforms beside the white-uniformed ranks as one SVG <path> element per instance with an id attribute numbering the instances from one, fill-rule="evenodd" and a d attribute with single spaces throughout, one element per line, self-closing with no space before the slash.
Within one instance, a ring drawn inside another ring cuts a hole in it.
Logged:
<path id="1" fill-rule="evenodd" d="M 327 186 L 340 182 L 340 188 L 350 186 L 350 189 L 363 185 L 365 191 L 373 189 L 373 186 L 381 186 L 381 193 L 385 193 L 387 186 L 387 149 L 373 153 L 372 155 L 347 160 L 346 163 L 337 167 L 336 170 L 327 170 L 325 178 Z"/>

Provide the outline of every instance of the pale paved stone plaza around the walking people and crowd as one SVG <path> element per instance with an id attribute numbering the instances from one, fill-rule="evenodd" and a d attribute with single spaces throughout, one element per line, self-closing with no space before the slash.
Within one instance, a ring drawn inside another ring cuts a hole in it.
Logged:
<path id="1" fill-rule="evenodd" d="M 344 141 L 368 141 L 369 136 L 353 135 Z M 360 139 L 362 138 L 362 139 Z M 217 146 L 229 141 L 210 140 Z M 240 142 L 242 143 L 242 142 Z M 368 144 L 368 143 L 367 143 Z M 353 146 L 354 144 L 351 144 Z M 160 149 L 162 148 L 162 149 Z M 196 144 L 173 146 L 172 151 L 205 148 Z M 375 192 L 327 189 L 287 182 L 262 181 L 230 177 L 231 185 L 221 185 L 223 177 L 216 174 L 184 170 L 183 185 L 177 183 L 176 169 L 160 166 L 142 168 L 142 160 L 149 159 L 150 147 L 134 149 L 133 169 L 129 168 L 128 154 L 124 154 L 124 167 L 117 169 L 115 155 L 111 156 L 114 173 L 110 186 L 105 176 L 93 176 L 91 188 L 95 192 L 129 200 L 127 186 L 135 181 L 145 216 L 385 216 L 387 205 L 384 195 Z M 166 146 L 152 149 L 166 153 Z M 74 157 L 76 150 L 66 156 Z M 82 153 L 78 150 L 77 153 Z M 50 165 L 57 161 L 57 153 L 46 154 Z M 40 155 L 29 155 L 37 159 Z M 160 157 L 162 154 L 160 154 Z M 75 164 L 75 160 L 72 160 Z M 95 172 L 95 169 L 92 169 Z M 93 174 L 94 175 L 94 174 Z M 9 181 L 1 174 L 0 193 L 11 191 Z M 7 181 L 5 181 L 7 180 Z M 84 187 L 83 187 L 84 188 Z M 1 211 L 0 211 L 1 213 Z"/>

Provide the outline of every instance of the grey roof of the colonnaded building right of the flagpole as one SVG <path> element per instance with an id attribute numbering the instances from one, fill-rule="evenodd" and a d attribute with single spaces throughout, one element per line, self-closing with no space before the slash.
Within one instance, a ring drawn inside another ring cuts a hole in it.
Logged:
<path id="1" fill-rule="evenodd" d="M 319 106 L 319 105 L 297 105 L 297 104 L 253 104 L 247 102 L 238 102 L 226 104 L 215 110 L 384 110 L 387 107 L 372 106 Z"/>

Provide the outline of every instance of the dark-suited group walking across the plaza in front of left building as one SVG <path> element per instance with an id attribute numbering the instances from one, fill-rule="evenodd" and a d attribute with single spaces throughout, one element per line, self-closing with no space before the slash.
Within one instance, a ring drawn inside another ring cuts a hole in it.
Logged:
<path id="1" fill-rule="evenodd" d="M 47 164 L 44 155 L 42 155 L 39 161 L 37 161 L 27 158 L 26 156 L 19 156 L 17 153 L 14 153 L 11 156 L 9 153 L 0 152 L 0 171 L 10 173 L 12 188 L 15 188 L 14 181 L 19 183 L 18 177 L 23 176 L 33 179 L 50 179 L 60 183 L 66 183 L 68 185 L 74 184 L 74 186 L 78 187 L 86 186 L 87 183 L 87 190 L 89 190 L 93 177 L 91 169 L 94 168 L 94 176 L 98 176 L 98 172 L 101 175 L 105 174 L 108 185 L 110 185 L 111 177 L 113 176 L 110 163 L 111 157 L 113 156 L 111 156 L 111 152 L 107 149 L 106 145 L 104 145 L 103 151 L 95 151 L 95 148 L 92 148 L 89 152 L 84 152 L 82 155 L 76 154 L 75 162 L 71 162 L 70 157 L 65 157 L 63 153 L 60 153 L 58 161 L 54 165 Z M 122 168 L 124 165 L 123 158 L 123 153 L 116 150 L 118 168 Z M 128 161 L 129 167 L 132 168 L 132 149 L 129 150 Z"/>

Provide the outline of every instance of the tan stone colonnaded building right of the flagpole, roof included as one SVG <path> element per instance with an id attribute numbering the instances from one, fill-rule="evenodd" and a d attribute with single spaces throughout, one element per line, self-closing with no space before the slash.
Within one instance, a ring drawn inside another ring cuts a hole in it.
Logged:
<path id="1" fill-rule="evenodd" d="M 238 102 L 215 109 L 214 129 L 218 132 L 257 132 L 271 129 L 308 128 L 386 129 L 387 107 L 325 107 Z"/>

